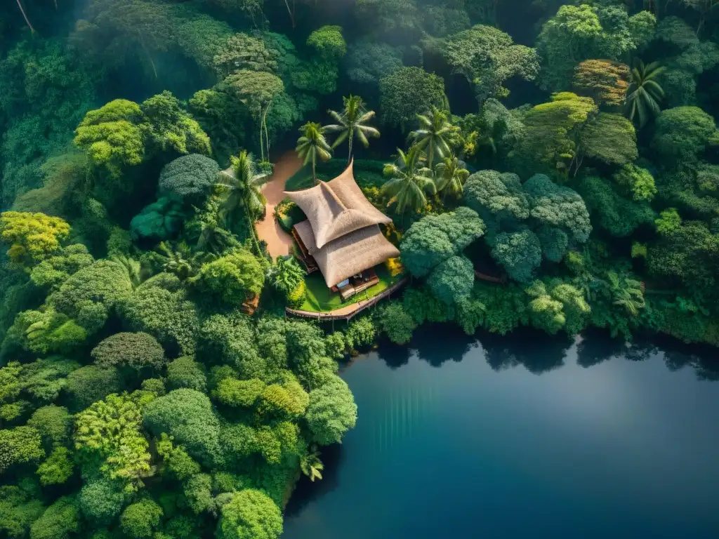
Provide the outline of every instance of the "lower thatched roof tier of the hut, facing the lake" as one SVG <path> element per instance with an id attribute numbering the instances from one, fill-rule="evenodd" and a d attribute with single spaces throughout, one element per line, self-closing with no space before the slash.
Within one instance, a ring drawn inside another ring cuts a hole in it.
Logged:
<path id="1" fill-rule="evenodd" d="M 327 287 L 400 255 L 376 224 L 345 234 L 324 247 L 317 247 L 309 220 L 296 224 L 295 230 L 317 262 Z"/>

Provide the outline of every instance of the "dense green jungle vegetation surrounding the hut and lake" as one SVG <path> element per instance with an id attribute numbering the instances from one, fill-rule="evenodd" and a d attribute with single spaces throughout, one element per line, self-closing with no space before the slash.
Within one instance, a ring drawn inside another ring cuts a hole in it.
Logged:
<path id="1" fill-rule="evenodd" d="M 278 538 L 423 323 L 719 346 L 715 4 L 4 2 L 0 537 Z M 295 147 L 411 276 L 337 331 L 255 231 Z"/>

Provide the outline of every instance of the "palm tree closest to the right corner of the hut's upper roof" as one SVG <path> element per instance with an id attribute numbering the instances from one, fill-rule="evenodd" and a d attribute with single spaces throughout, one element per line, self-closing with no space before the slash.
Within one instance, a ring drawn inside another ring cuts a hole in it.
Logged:
<path id="1" fill-rule="evenodd" d="M 390 197 L 390 203 L 397 203 L 399 213 L 404 213 L 407 208 L 418 211 L 427 204 L 425 193 L 436 193 L 432 171 L 423 166 L 422 150 L 418 145 L 407 153 L 399 148 L 397 151 L 400 155 L 397 162 L 385 165 L 383 172 L 391 179 L 382 186 L 382 193 Z"/>

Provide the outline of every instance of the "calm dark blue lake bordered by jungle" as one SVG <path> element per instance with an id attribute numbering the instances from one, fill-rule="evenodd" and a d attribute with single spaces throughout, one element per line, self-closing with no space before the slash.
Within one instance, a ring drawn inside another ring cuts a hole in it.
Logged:
<path id="1" fill-rule="evenodd" d="M 357 427 L 283 539 L 719 538 L 713 351 L 417 333 L 344 367 Z"/>

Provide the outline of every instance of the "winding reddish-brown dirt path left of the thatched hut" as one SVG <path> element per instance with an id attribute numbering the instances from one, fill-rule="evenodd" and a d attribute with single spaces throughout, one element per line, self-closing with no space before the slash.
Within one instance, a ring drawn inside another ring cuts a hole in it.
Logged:
<path id="1" fill-rule="evenodd" d="M 283 195 L 285 182 L 292 178 L 294 173 L 300 170 L 301 167 L 302 160 L 296 152 L 286 152 L 275 163 L 272 180 L 265 183 L 262 188 L 262 194 L 267 198 L 266 214 L 262 221 L 257 221 L 255 228 L 257 229 L 257 236 L 267 241 L 267 252 L 270 253 L 273 259 L 290 254 L 292 236 L 282 229 L 278 221 L 273 217 L 273 213 L 275 206 L 285 198 L 285 195 Z"/>

